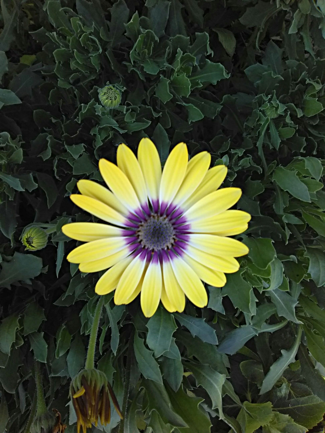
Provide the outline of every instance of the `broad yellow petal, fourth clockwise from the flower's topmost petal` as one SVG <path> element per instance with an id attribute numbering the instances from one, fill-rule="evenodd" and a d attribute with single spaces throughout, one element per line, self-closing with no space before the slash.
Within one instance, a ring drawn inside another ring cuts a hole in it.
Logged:
<path id="1" fill-rule="evenodd" d="M 222 188 L 201 198 L 201 200 L 186 210 L 184 216 L 190 223 L 195 220 L 209 218 L 234 206 L 240 199 L 240 196 L 240 188 Z"/>

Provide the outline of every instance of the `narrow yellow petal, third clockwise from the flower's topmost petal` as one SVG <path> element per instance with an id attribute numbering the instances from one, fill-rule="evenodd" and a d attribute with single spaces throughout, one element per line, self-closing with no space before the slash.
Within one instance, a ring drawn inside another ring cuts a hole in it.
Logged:
<path id="1" fill-rule="evenodd" d="M 182 204 L 183 209 L 188 209 L 198 200 L 217 190 L 227 174 L 227 167 L 225 165 L 216 165 L 207 171 L 201 184 L 196 188 L 190 197 Z"/>

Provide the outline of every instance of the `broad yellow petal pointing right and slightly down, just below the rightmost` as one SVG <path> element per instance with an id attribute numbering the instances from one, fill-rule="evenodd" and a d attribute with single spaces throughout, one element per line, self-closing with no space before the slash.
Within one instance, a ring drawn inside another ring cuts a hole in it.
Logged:
<path id="1" fill-rule="evenodd" d="M 190 245 L 212 255 L 240 257 L 249 252 L 247 246 L 236 239 L 205 233 L 193 233 L 189 236 Z"/>

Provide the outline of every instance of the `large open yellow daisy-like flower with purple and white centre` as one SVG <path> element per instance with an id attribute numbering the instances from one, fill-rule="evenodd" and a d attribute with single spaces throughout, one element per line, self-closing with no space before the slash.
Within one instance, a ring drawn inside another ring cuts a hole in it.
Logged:
<path id="1" fill-rule="evenodd" d="M 128 304 L 141 292 L 146 317 L 160 300 L 166 310 L 181 312 L 185 296 L 198 307 L 207 305 L 202 281 L 222 287 L 224 273 L 239 269 L 235 257 L 247 254 L 247 246 L 227 236 L 246 230 L 250 215 L 228 210 L 241 190 L 218 190 L 227 168 L 209 169 L 210 162 L 208 152 L 188 161 L 187 147 L 179 143 L 162 170 L 155 145 L 144 138 L 137 158 L 121 144 L 117 165 L 99 161 L 109 189 L 90 180 L 78 182 L 81 194 L 72 194 L 71 200 L 108 224 L 70 223 L 62 231 L 87 242 L 67 257 L 80 264 L 80 271 L 109 268 L 97 281 L 97 294 L 115 290 L 115 304 Z"/>

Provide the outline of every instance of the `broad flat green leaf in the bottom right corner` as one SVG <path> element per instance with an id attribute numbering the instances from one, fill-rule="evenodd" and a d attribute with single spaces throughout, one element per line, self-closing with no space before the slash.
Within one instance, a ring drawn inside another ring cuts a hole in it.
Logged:
<path id="1" fill-rule="evenodd" d="M 296 423 L 311 429 L 323 419 L 325 402 L 315 395 L 307 395 L 287 401 L 276 401 L 274 408 L 292 417 Z"/>

